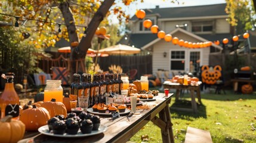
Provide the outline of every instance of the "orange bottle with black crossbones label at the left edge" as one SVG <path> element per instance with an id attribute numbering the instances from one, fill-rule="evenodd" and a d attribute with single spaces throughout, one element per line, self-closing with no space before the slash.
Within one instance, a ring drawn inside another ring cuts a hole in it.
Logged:
<path id="1" fill-rule="evenodd" d="M 1 118 L 7 115 L 13 116 L 13 119 L 18 119 L 20 99 L 14 89 L 14 73 L 2 74 L 5 79 L 4 92 L 0 95 Z"/>

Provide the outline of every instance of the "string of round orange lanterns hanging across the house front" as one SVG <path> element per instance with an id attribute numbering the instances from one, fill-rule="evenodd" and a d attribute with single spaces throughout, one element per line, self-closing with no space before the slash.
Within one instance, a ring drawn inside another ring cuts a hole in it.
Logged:
<path id="1" fill-rule="evenodd" d="M 144 17 L 146 17 L 146 13 L 144 10 L 137 10 L 135 13 L 136 17 L 142 20 Z M 164 39 L 166 42 L 172 42 L 174 45 L 179 45 L 179 46 L 184 46 L 185 48 L 206 48 L 212 45 L 211 41 L 206 41 L 206 42 L 189 42 L 189 41 L 184 41 L 183 39 L 178 39 L 177 37 L 172 38 L 172 35 L 170 34 L 165 34 L 164 30 L 159 30 L 159 27 L 157 25 L 152 26 L 152 21 L 147 19 L 143 21 L 143 26 L 147 29 L 150 28 L 150 31 L 153 34 L 158 34 L 158 38 Z M 249 33 L 244 33 L 243 38 L 247 39 L 249 38 Z M 233 36 L 232 40 L 234 42 L 239 40 L 239 35 L 238 36 Z M 222 41 L 223 44 L 229 43 L 229 39 L 224 38 Z M 220 41 L 214 41 L 215 45 L 220 45 Z"/>

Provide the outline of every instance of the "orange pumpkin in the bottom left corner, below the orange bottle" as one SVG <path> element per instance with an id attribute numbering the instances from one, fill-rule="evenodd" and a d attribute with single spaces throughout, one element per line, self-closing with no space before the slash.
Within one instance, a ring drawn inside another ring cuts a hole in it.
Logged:
<path id="1" fill-rule="evenodd" d="M 25 125 L 20 120 L 11 119 L 13 116 L 5 116 L 0 120 L 0 141 L 18 142 L 23 138 Z"/>

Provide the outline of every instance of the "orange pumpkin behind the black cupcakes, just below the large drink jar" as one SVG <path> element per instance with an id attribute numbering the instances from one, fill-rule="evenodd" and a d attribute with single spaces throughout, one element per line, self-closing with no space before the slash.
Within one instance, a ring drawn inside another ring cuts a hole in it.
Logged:
<path id="1" fill-rule="evenodd" d="M 64 117 L 67 117 L 67 109 L 63 102 L 56 102 L 54 98 L 51 99 L 51 101 L 44 102 L 41 107 L 46 108 L 49 111 L 51 117 L 60 114 L 63 114 Z"/>

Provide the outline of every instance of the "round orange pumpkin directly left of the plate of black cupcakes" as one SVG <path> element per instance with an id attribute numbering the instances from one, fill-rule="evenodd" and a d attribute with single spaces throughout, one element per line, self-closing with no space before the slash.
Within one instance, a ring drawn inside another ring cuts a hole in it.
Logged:
<path id="1" fill-rule="evenodd" d="M 20 114 L 20 121 L 26 125 L 26 130 L 38 130 L 39 127 L 47 125 L 50 114 L 44 107 L 27 108 Z"/>

